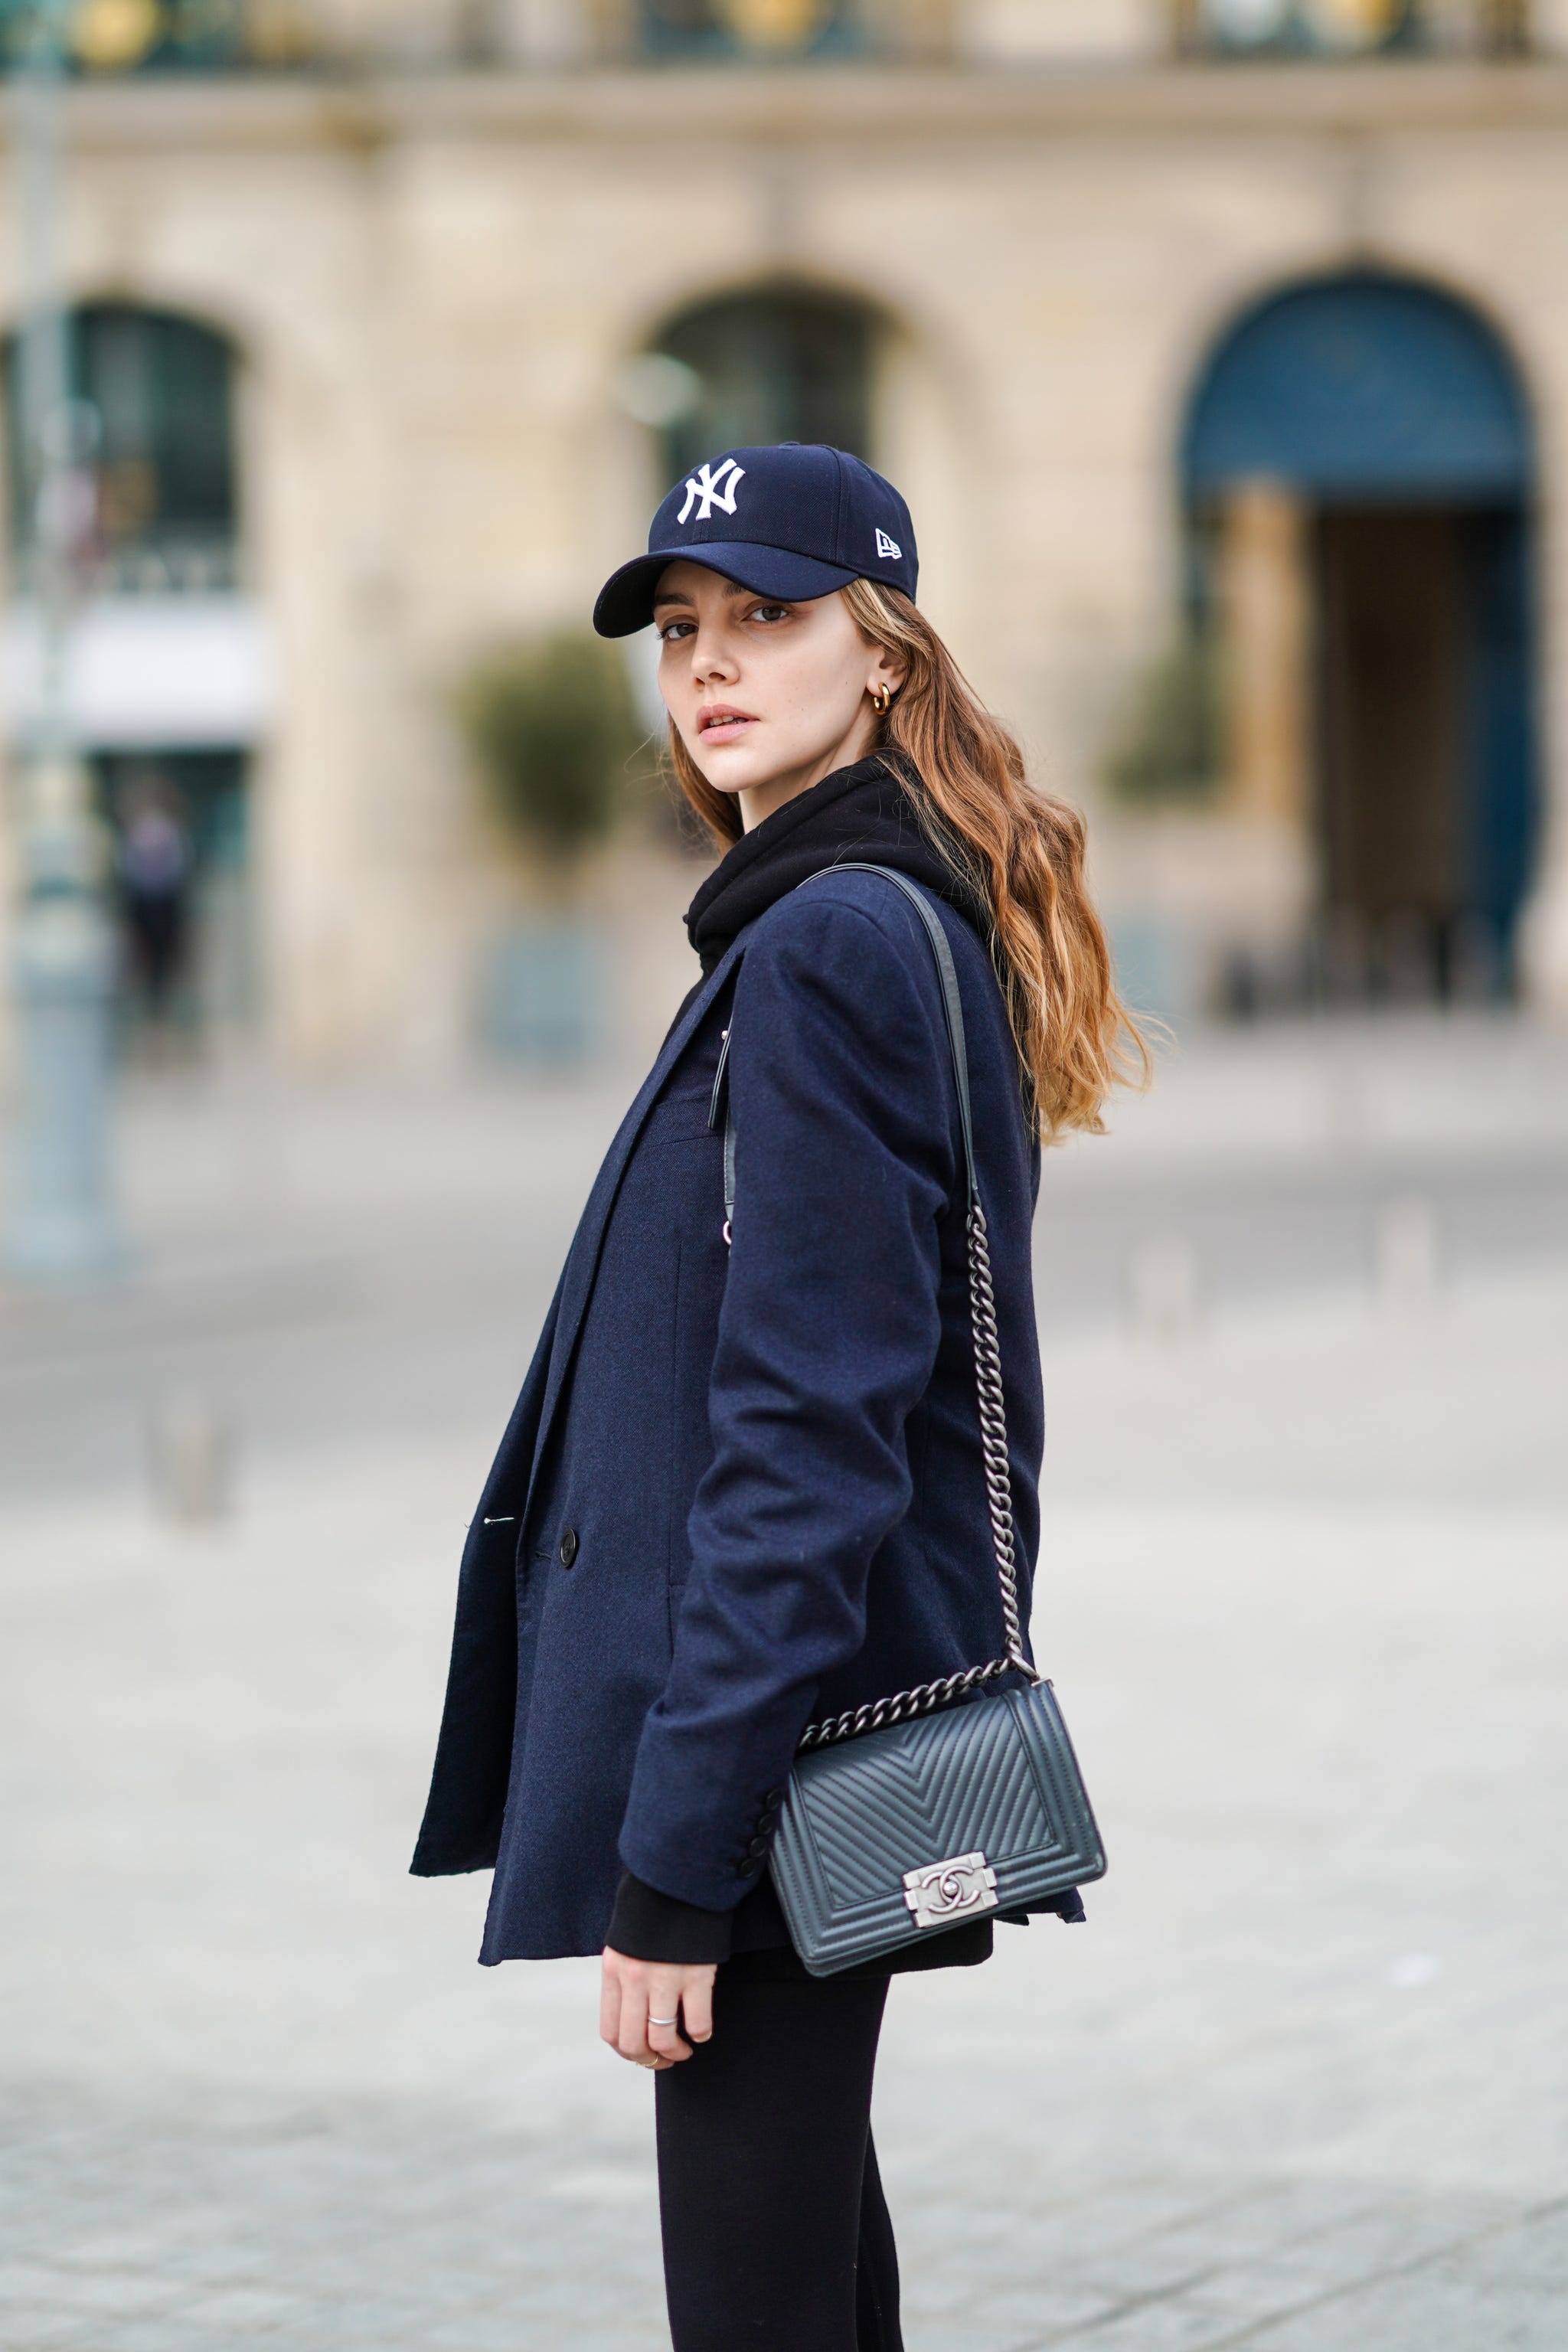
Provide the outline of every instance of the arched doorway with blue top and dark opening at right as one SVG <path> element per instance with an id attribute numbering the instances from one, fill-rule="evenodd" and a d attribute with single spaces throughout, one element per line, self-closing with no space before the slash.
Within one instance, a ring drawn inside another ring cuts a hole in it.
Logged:
<path id="1" fill-rule="evenodd" d="M 1352 990 L 1507 981 L 1535 835 L 1533 475 L 1509 353 L 1413 280 L 1272 296 L 1192 397 L 1197 600 L 1227 562 L 1295 572 L 1302 814 Z"/>

